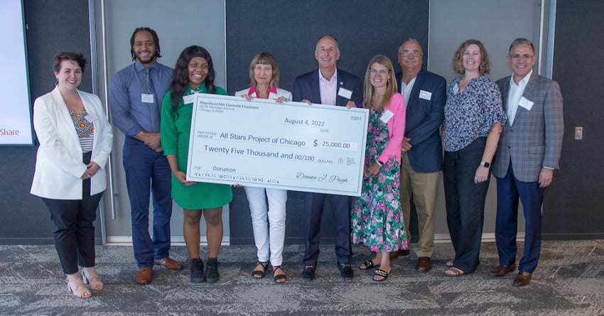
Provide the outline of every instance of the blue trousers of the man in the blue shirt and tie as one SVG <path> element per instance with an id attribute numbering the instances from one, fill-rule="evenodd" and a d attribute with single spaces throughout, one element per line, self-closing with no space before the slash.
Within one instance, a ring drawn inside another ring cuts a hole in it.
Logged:
<path id="1" fill-rule="evenodd" d="M 130 198 L 132 244 L 139 268 L 153 266 L 153 259 L 168 257 L 172 183 L 168 159 L 143 142 L 126 136 L 124 170 Z M 151 191 L 150 191 L 151 189 Z M 149 197 L 153 192 L 153 239 L 149 236 Z"/>

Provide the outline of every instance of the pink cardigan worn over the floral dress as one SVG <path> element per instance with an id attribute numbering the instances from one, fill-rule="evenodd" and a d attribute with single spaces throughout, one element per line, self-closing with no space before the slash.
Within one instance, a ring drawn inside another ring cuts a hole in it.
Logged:
<path id="1" fill-rule="evenodd" d="M 390 99 L 390 103 L 384 106 L 384 109 L 389 109 L 394 113 L 392 119 L 388 121 L 388 132 L 390 139 L 386 148 L 379 155 L 377 160 L 380 163 L 386 163 L 392 156 L 397 158 L 401 163 L 401 143 L 405 132 L 405 99 L 400 93 L 395 93 Z"/>

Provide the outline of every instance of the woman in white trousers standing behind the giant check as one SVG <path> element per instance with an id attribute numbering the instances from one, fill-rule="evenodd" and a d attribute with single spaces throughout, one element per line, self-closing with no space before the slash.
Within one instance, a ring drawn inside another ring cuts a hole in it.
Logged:
<path id="1" fill-rule="evenodd" d="M 235 97 L 243 97 L 248 101 L 254 98 L 274 99 L 283 103 L 291 100 L 291 92 L 279 89 L 279 67 L 273 55 L 259 53 L 252 58 L 249 65 L 250 87 L 235 93 Z M 283 263 L 283 248 L 285 241 L 285 206 L 287 191 L 264 187 L 244 187 L 249 202 L 249 212 L 252 215 L 252 229 L 257 248 L 258 262 L 252 276 L 263 278 L 266 268 L 273 266 L 273 278 L 276 283 L 284 283 L 287 276 Z M 266 197 L 269 207 L 266 208 Z"/>

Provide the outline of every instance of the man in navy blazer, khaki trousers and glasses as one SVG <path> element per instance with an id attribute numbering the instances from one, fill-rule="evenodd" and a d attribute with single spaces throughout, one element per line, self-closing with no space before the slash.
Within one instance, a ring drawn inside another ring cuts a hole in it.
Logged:
<path id="1" fill-rule="evenodd" d="M 405 136 L 402 143 L 400 192 L 405 227 L 409 228 L 411 195 L 417 213 L 419 242 L 416 271 L 432 268 L 436 200 L 443 170 L 440 127 L 445 118 L 446 80 L 421 69 L 421 45 L 413 38 L 399 46 L 397 73 L 399 92 L 406 104 Z M 411 234 L 407 234 L 411 241 Z M 400 255 L 409 251 L 399 251 Z"/>

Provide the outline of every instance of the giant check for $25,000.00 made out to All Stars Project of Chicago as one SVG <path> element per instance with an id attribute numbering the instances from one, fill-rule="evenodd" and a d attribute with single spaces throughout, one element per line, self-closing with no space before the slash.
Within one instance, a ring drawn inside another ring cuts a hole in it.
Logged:
<path id="1" fill-rule="evenodd" d="M 367 115 L 195 94 L 187 180 L 360 196 Z"/>

